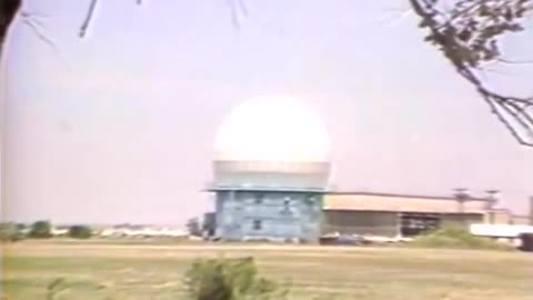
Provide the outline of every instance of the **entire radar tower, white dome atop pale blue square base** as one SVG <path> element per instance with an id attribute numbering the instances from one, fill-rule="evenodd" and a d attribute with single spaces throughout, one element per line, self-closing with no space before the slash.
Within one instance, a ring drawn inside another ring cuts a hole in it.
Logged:
<path id="1" fill-rule="evenodd" d="M 215 139 L 215 234 L 318 240 L 329 147 L 319 114 L 299 100 L 263 97 L 234 109 Z"/>

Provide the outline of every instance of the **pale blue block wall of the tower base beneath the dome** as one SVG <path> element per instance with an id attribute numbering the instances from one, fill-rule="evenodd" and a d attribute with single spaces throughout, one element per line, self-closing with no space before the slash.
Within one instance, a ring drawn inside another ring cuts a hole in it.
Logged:
<path id="1" fill-rule="evenodd" d="M 220 191 L 217 193 L 217 236 L 245 238 L 320 237 L 321 196 L 304 192 Z"/>

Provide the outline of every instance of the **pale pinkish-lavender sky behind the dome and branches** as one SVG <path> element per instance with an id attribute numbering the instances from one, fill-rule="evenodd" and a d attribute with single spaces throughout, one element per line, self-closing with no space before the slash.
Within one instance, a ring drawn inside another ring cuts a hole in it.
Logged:
<path id="1" fill-rule="evenodd" d="M 500 189 L 526 213 L 533 149 L 421 41 L 406 0 L 244 1 L 237 29 L 227 0 L 101 0 L 79 39 L 89 0 L 27 0 L 2 66 L 3 218 L 183 223 L 212 207 L 224 116 L 271 93 L 318 108 L 341 190 Z M 533 60 L 533 31 L 504 46 Z M 491 86 L 533 93 L 533 66 L 503 72 Z"/>

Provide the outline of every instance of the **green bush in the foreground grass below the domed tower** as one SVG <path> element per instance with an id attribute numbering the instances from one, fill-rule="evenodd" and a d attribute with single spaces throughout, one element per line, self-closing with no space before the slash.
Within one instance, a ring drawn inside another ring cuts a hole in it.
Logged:
<path id="1" fill-rule="evenodd" d="M 185 273 L 192 300 L 285 299 L 286 291 L 258 274 L 253 258 L 198 259 Z"/>

